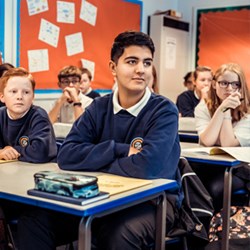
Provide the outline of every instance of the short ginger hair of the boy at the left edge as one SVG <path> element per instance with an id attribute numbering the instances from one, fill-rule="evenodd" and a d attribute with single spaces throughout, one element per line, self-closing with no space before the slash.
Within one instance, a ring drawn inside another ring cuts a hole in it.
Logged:
<path id="1" fill-rule="evenodd" d="M 36 83 L 35 83 L 33 76 L 26 69 L 21 68 L 21 67 L 11 68 L 4 73 L 4 75 L 0 78 L 0 92 L 3 93 L 3 91 L 7 85 L 8 80 L 10 78 L 16 77 L 16 76 L 28 78 L 31 82 L 32 90 L 34 92 Z"/>

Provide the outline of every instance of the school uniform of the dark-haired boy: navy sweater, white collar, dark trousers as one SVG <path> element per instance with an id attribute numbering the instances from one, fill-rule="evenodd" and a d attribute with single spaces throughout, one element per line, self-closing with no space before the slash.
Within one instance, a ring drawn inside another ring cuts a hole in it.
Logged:
<path id="1" fill-rule="evenodd" d="M 118 103 L 117 91 L 95 99 L 76 120 L 60 149 L 59 167 L 145 179 L 169 178 L 179 182 L 177 165 L 180 145 L 176 106 L 147 88 L 143 98 L 125 110 Z M 142 151 L 128 157 L 130 146 Z M 176 206 L 179 203 L 176 194 Z M 21 220 L 20 238 L 32 235 L 32 239 L 21 242 L 21 249 L 29 249 L 29 245 L 52 249 L 48 246 L 55 246 L 57 237 L 54 232 L 62 227 L 63 216 L 60 220 L 58 214 L 50 213 L 45 218 L 38 212 L 33 215 Z M 57 226 L 56 218 L 60 221 Z M 77 224 L 74 226 L 77 227 Z M 51 228 L 54 239 L 47 233 Z M 155 240 L 155 206 L 146 202 L 98 218 L 93 221 L 92 233 L 97 249 L 141 249 Z M 34 240 L 37 237 L 39 241 Z"/>

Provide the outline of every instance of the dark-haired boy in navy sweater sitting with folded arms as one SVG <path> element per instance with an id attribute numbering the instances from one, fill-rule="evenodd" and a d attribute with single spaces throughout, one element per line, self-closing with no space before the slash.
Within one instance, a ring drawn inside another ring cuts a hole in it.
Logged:
<path id="1" fill-rule="evenodd" d="M 154 50 L 151 38 L 141 32 L 128 31 L 115 38 L 109 67 L 118 88 L 95 99 L 74 123 L 58 155 L 60 168 L 145 179 L 178 178 L 178 110 L 147 87 Z M 54 213 L 46 216 L 38 212 L 23 217 L 21 250 L 54 249 L 58 237 L 65 239 L 67 232 L 58 234 L 64 217 L 56 224 Z M 72 220 L 68 223 L 64 226 L 68 231 L 78 227 Z M 155 240 L 155 206 L 147 202 L 98 218 L 92 232 L 97 249 L 144 249 Z"/>

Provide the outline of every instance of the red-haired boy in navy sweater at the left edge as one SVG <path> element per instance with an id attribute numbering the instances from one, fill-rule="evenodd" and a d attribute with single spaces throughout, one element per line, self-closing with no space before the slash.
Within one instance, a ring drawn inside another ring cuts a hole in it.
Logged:
<path id="1" fill-rule="evenodd" d="M 53 127 L 45 110 L 32 105 L 35 81 L 23 68 L 9 69 L 0 79 L 0 159 L 26 162 L 56 160 Z"/>

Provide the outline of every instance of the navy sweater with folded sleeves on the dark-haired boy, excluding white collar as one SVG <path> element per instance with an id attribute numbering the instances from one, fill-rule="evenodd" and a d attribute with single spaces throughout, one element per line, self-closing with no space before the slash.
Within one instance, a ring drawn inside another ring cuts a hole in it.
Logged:
<path id="1" fill-rule="evenodd" d="M 124 122 L 123 128 L 123 124 L 117 124 L 111 101 L 107 105 L 94 101 L 63 143 L 58 155 L 60 168 L 176 179 L 180 156 L 178 111 L 169 100 L 153 96 L 138 117 L 129 126 Z M 128 157 L 135 137 L 143 139 L 143 149 Z"/>

